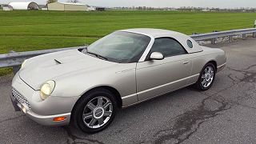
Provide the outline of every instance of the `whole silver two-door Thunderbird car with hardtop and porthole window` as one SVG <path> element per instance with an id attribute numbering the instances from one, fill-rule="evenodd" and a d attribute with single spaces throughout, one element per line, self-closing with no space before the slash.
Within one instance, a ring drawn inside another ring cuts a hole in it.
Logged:
<path id="1" fill-rule="evenodd" d="M 27 59 L 12 82 L 15 110 L 46 126 L 96 133 L 118 108 L 194 85 L 208 90 L 223 50 L 170 30 L 118 30 L 85 49 Z"/>

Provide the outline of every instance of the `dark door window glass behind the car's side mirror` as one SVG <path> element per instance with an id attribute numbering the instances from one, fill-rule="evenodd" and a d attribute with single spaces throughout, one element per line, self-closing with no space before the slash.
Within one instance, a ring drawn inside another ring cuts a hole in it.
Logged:
<path id="1" fill-rule="evenodd" d="M 186 54 L 186 50 L 173 38 L 156 38 L 150 54 L 153 52 L 162 53 L 164 57 Z"/>

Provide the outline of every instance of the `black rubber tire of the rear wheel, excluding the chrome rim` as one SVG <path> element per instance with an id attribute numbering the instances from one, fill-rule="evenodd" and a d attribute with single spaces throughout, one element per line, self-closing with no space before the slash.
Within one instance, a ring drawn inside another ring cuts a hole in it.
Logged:
<path id="1" fill-rule="evenodd" d="M 209 86 L 203 86 L 202 84 L 202 81 L 203 81 L 203 78 L 202 78 L 202 75 L 204 74 L 204 71 L 206 70 L 207 67 L 211 67 L 212 70 L 214 71 L 214 74 L 213 74 L 213 79 L 212 81 L 210 82 L 210 85 Z M 201 73 L 199 75 L 199 78 L 198 78 L 198 81 L 194 84 L 195 88 L 197 88 L 198 90 L 202 90 L 202 91 L 205 91 L 205 90 L 209 90 L 210 87 L 213 85 L 214 83 L 214 80 L 215 80 L 215 75 L 216 75 L 216 67 L 214 66 L 213 63 L 207 63 L 206 66 L 204 66 L 201 70 Z"/>

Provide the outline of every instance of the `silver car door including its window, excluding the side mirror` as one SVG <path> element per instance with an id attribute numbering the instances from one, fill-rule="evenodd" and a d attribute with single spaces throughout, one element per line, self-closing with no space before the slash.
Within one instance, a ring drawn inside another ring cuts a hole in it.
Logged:
<path id="1" fill-rule="evenodd" d="M 162 60 L 150 60 L 160 52 Z M 138 62 L 136 81 L 138 101 L 165 94 L 188 83 L 192 62 L 184 47 L 174 38 L 156 38 L 145 62 Z"/>

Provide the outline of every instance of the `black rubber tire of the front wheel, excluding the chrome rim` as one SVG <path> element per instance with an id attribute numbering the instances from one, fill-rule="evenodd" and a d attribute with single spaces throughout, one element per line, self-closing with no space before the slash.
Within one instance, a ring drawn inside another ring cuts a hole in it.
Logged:
<path id="1" fill-rule="evenodd" d="M 99 96 L 101 97 L 103 96 L 110 100 L 111 105 L 113 106 L 112 114 L 110 115 L 109 120 L 105 124 L 102 124 L 102 126 L 98 128 L 90 128 L 89 126 L 86 126 L 82 115 L 84 113 L 84 109 L 86 108 L 86 106 L 88 106 L 87 104 L 92 100 L 94 100 L 95 98 L 98 98 Z M 80 98 L 76 103 L 74 110 L 72 110 L 70 124 L 78 127 L 80 130 L 82 130 L 85 133 L 89 133 L 89 134 L 98 133 L 106 129 L 107 126 L 110 126 L 110 123 L 114 120 L 117 107 L 118 107 L 117 101 L 114 97 L 114 94 L 112 94 L 110 90 L 106 90 L 106 89 L 90 90 L 89 92 L 84 94 L 82 98 Z"/>

